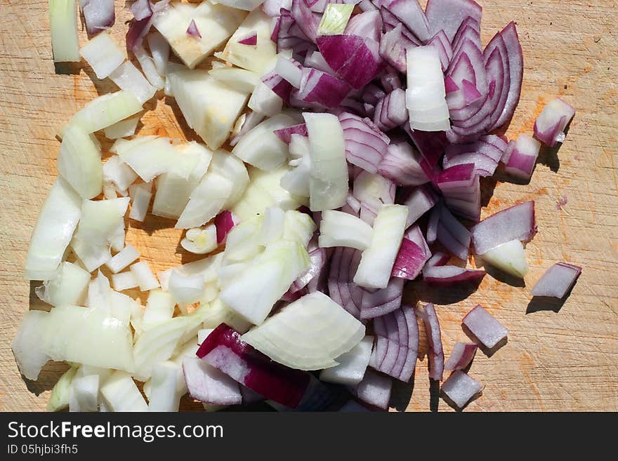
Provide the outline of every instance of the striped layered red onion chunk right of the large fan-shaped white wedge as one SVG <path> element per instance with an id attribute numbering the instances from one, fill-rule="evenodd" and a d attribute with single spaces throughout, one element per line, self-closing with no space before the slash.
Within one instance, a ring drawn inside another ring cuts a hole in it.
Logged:
<path id="1" fill-rule="evenodd" d="M 376 344 L 369 366 L 397 380 L 409 382 L 419 354 L 419 324 L 414 309 L 402 306 L 374 319 Z"/>

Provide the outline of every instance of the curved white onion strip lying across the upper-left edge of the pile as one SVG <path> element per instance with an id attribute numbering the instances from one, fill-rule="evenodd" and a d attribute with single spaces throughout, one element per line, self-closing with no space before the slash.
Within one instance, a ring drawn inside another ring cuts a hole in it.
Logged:
<path id="1" fill-rule="evenodd" d="M 136 95 L 121 90 L 91 100 L 73 116 L 71 123 L 81 126 L 87 133 L 94 133 L 137 114 L 140 110 L 142 105 Z"/>

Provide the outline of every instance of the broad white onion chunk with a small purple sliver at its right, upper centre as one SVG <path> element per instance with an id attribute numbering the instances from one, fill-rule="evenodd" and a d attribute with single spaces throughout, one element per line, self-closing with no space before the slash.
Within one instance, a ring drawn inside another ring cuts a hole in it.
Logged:
<path id="1" fill-rule="evenodd" d="M 288 156 L 287 145 L 274 131 L 296 124 L 286 114 L 277 114 L 259 123 L 246 133 L 232 150 L 239 159 L 262 170 L 272 171 L 281 166 Z"/>

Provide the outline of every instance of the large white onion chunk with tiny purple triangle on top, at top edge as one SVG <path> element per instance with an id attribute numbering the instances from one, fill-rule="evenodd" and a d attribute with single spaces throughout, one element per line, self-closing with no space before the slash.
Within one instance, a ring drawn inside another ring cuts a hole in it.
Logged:
<path id="1" fill-rule="evenodd" d="M 178 58 L 193 69 L 232 35 L 245 15 L 244 11 L 209 2 L 202 2 L 199 6 L 173 3 L 157 14 L 153 25 Z M 187 26 L 192 20 L 201 36 L 187 33 Z"/>

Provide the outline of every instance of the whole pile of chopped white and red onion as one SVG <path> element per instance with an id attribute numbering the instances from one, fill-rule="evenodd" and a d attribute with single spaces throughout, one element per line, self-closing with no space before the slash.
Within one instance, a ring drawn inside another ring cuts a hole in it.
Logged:
<path id="1" fill-rule="evenodd" d="M 105 30 L 114 2 L 79 5 L 81 49 L 75 2 L 49 2 L 54 60 L 81 56 L 119 91 L 58 131 L 59 175 L 27 254 L 50 308 L 25 314 L 15 359 L 32 380 L 49 360 L 71 366 L 48 410 L 175 411 L 185 394 L 206 410 L 337 409 L 324 383 L 345 385 L 343 411 L 387 409 L 393 379 L 413 379 L 419 328 L 430 378 L 452 372 L 445 399 L 463 408 L 478 395 L 467 372 L 506 328 L 474 307 L 462 326 L 475 342 L 445 361 L 440 308 L 402 299 L 408 283 L 478 284 L 480 260 L 529 270 L 534 202 L 480 220 L 480 178 L 530 180 L 574 109 L 551 101 L 538 140 L 497 134 L 522 86 L 514 22 L 483 48 L 473 0 L 425 11 L 416 0 L 139 0 L 127 60 Z M 202 142 L 136 133 L 163 95 Z M 126 220 L 149 213 L 202 256 L 152 272 L 125 242 Z M 532 295 L 564 298 L 580 273 L 558 262 Z"/>

